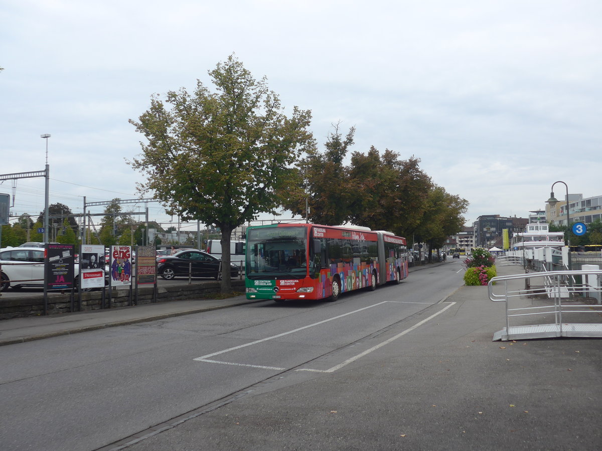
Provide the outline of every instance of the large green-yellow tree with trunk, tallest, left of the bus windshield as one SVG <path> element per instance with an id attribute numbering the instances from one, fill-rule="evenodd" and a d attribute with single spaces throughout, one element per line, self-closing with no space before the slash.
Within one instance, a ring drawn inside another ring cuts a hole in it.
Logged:
<path id="1" fill-rule="evenodd" d="M 165 102 L 153 96 L 151 108 L 130 120 L 146 141 L 129 164 L 147 176 L 142 192 L 184 220 L 216 225 L 229 249 L 232 230 L 275 211 L 292 165 L 314 146 L 311 112 L 294 107 L 287 117 L 266 79 L 254 79 L 232 55 L 209 76 L 215 92 L 197 81 L 193 93 L 169 91 Z M 223 275 L 222 291 L 231 292 L 229 271 Z"/>

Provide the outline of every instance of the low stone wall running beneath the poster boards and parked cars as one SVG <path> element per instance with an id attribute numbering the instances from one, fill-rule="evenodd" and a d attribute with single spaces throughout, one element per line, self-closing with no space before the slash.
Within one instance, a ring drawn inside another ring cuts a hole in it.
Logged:
<path id="1" fill-rule="evenodd" d="M 244 292 L 244 280 L 232 280 L 232 289 Z M 203 281 L 193 284 L 169 285 L 157 287 L 156 301 L 153 299 L 154 287 L 138 287 L 138 296 L 132 289 L 120 289 L 111 292 L 109 305 L 108 290 L 105 291 L 104 304 L 102 291 L 81 293 L 81 310 L 79 309 L 78 293 L 50 293 L 48 295 L 48 314 L 72 313 L 75 311 L 99 310 L 101 308 L 119 308 L 127 305 L 150 304 L 151 302 L 169 302 L 179 299 L 197 299 L 211 296 L 220 292 L 220 283 Z M 0 319 L 24 318 L 44 314 L 43 295 L 23 296 L 19 298 L 0 298 Z"/>

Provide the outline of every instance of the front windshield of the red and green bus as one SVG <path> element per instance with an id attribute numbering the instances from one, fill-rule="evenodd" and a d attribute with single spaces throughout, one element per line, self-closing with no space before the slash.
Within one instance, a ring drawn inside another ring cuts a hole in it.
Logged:
<path id="1" fill-rule="evenodd" d="M 307 228 L 266 227 L 247 235 L 246 277 L 303 278 L 307 275 Z"/>

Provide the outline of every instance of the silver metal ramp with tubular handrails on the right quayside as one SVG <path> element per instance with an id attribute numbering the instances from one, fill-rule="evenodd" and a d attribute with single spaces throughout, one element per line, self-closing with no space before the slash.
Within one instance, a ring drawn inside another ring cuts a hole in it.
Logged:
<path id="1" fill-rule="evenodd" d="M 506 327 L 494 334 L 493 341 L 602 338 L 601 278 L 599 270 L 530 272 L 492 278 L 488 284 L 489 299 L 506 303 Z M 568 318 L 577 321 L 568 322 Z M 554 322 L 550 323 L 550 319 Z"/>

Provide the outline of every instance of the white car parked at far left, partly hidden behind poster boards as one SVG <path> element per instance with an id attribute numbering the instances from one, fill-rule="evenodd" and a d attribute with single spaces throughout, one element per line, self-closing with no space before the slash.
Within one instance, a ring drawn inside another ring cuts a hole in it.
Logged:
<path id="1" fill-rule="evenodd" d="M 10 265 L 5 263 L 23 263 Z M 28 263 L 28 264 L 26 264 Z M 18 290 L 22 287 L 44 287 L 44 249 L 40 247 L 14 247 L 0 250 L 0 264 L 2 282 L 0 290 L 6 291 L 8 287 Z M 106 271 L 106 270 L 105 270 Z M 79 283 L 79 264 L 73 267 L 75 286 Z M 108 277 L 108 272 L 106 273 Z M 105 277 L 105 285 L 108 280 Z M 87 289 L 85 291 L 92 290 Z"/>

